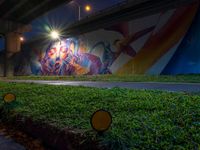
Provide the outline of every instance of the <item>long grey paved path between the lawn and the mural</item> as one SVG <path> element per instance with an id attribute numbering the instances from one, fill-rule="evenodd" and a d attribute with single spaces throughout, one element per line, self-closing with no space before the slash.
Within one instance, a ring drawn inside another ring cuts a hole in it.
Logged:
<path id="1" fill-rule="evenodd" d="M 9 80 L 9 82 L 39 83 L 48 85 L 87 86 L 99 88 L 122 87 L 129 89 L 167 90 L 173 92 L 200 92 L 200 83 L 161 83 L 161 82 L 93 82 L 93 81 L 46 81 Z"/>

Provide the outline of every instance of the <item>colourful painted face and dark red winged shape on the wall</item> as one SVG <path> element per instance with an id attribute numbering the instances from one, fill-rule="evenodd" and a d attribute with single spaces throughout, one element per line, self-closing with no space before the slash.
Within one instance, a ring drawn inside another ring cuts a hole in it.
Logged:
<path id="1" fill-rule="evenodd" d="M 87 49 L 81 38 L 68 38 L 51 43 L 40 61 L 40 73 L 42 75 L 111 74 L 110 67 L 119 55 L 125 53 L 134 57 L 136 51 L 130 44 L 154 28 L 155 26 L 152 26 L 133 35 L 115 39 L 112 43 L 114 49 L 111 48 L 111 43 L 105 41 L 98 41 Z M 93 54 L 98 48 L 102 52 L 102 57 Z"/>

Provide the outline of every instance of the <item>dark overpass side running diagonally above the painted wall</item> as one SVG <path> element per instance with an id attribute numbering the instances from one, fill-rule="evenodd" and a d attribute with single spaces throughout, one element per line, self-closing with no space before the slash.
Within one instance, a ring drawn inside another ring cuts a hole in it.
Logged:
<path id="1" fill-rule="evenodd" d="M 187 5 L 197 0 L 127 0 L 75 22 L 63 31 L 66 37 L 110 27 L 120 21 L 127 21 L 155 14 L 161 11 Z"/>

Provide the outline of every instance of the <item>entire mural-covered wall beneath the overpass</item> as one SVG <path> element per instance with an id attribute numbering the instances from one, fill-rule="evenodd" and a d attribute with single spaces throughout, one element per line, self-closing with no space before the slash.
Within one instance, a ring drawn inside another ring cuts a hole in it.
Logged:
<path id="1" fill-rule="evenodd" d="M 200 73 L 198 2 L 25 48 L 16 74 Z"/>

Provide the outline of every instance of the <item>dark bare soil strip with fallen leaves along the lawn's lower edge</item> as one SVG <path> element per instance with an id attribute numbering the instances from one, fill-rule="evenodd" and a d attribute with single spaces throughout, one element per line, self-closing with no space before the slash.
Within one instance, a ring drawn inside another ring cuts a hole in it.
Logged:
<path id="1" fill-rule="evenodd" d="M 96 141 L 91 140 L 81 130 L 59 129 L 50 124 L 33 121 L 31 118 L 16 116 L 3 119 L 0 125 L 5 132 L 28 150 L 100 150 Z M 2 130 L 2 131 L 1 131 Z"/>

